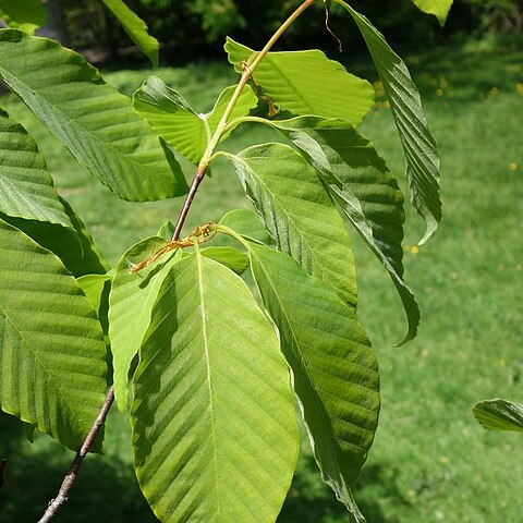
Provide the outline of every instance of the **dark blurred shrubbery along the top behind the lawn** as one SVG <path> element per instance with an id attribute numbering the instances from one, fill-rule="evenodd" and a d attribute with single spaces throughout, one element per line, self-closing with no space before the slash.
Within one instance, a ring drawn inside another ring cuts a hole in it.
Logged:
<path id="1" fill-rule="evenodd" d="M 126 0 L 162 45 L 169 64 L 194 61 L 197 57 L 221 56 L 226 35 L 259 48 L 281 20 L 297 4 L 292 0 Z M 447 26 L 441 29 L 434 16 L 422 15 L 409 0 L 353 0 L 399 49 L 426 49 L 437 44 L 514 46 L 523 28 L 523 0 L 454 0 Z M 60 39 L 75 49 L 89 49 L 95 61 L 143 60 L 129 42 L 117 21 L 99 0 L 48 0 L 51 25 Z M 324 10 L 321 2 L 315 7 Z M 329 25 L 346 48 L 362 49 L 357 31 L 346 29 L 339 5 L 330 5 Z M 50 14 L 51 14 L 50 13 Z M 337 42 L 325 29 L 325 19 L 309 10 L 279 44 L 280 49 L 308 48 L 315 42 L 336 50 Z M 98 50 L 98 53 L 95 51 Z M 89 57 L 92 58 L 92 57 Z"/>

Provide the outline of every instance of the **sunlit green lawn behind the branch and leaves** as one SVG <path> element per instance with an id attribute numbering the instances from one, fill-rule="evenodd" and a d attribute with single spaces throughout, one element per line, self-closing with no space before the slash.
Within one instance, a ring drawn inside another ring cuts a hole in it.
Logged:
<path id="1" fill-rule="evenodd" d="M 523 439 L 487 433 L 471 414 L 479 399 L 521 401 L 523 379 L 523 53 L 458 51 L 410 57 L 430 127 L 442 157 L 445 219 L 437 235 L 416 250 L 423 224 L 408 212 L 406 277 L 421 308 L 419 337 L 393 348 L 405 323 L 379 264 L 355 241 L 360 314 L 378 353 L 381 419 L 357 499 L 369 523 L 519 523 Z M 363 71 L 368 71 L 364 66 Z M 118 72 L 107 80 L 126 93 L 150 72 Z M 233 82 L 210 64 L 165 70 L 198 110 Z M 375 80 L 370 73 L 370 78 Z M 174 219 L 181 200 L 127 204 L 78 167 L 12 97 L 8 109 L 31 129 L 60 192 L 89 226 L 111 264 L 135 241 Z M 391 115 L 380 108 L 363 125 L 399 178 L 404 169 Z M 231 148 L 270 139 L 266 130 L 235 133 Z M 403 184 L 404 187 L 404 184 Z M 235 175 L 220 163 L 207 179 L 187 230 L 248 206 Z M 155 521 L 133 478 L 126 419 L 113 412 L 107 454 L 89 457 L 57 522 Z M 0 521 L 36 521 L 72 458 L 46 436 L 32 446 L 16 424 L 0 418 L 0 455 L 8 457 Z M 3 508 L 3 511 L 2 511 Z M 348 521 L 304 458 L 280 523 Z"/>

